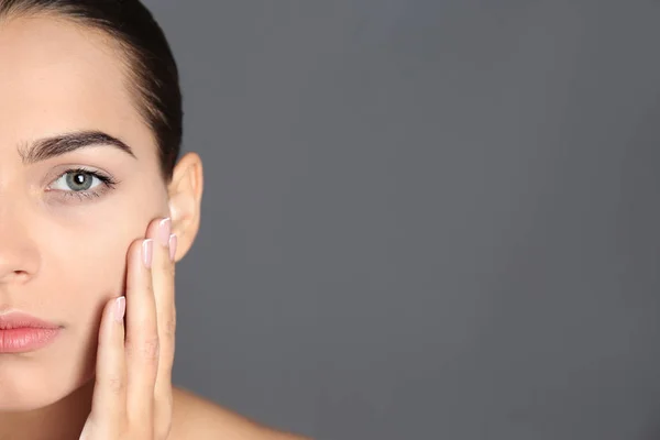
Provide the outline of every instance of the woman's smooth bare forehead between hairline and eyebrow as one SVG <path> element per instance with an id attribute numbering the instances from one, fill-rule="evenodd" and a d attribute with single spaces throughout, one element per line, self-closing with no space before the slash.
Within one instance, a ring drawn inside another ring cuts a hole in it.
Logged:
<path id="1" fill-rule="evenodd" d="M 99 31 L 52 16 L 0 21 L 0 155 L 80 130 L 150 143 L 127 78 L 123 57 Z"/>

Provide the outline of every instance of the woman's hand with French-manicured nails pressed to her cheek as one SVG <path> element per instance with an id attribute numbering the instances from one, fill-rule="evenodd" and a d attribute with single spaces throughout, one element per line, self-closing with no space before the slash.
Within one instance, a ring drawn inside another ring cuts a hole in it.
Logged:
<path id="1" fill-rule="evenodd" d="M 176 327 L 170 257 L 176 237 L 169 219 L 152 221 L 146 238 L 129 249 L 125 297 L 103 309 L 91 413 L 80 440 L 165 440 L 169 435 Z"/>

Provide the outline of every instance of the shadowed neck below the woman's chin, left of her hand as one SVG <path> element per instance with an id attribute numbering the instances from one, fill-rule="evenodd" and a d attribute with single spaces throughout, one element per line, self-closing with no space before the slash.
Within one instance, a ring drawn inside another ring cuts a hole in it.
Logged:
<path id="1" fill-rule="evenodd" d="M 0 411 L 0 440 L 77 440 L 91 409 L 92 393 L 94 380 L 46 407 Z"/>

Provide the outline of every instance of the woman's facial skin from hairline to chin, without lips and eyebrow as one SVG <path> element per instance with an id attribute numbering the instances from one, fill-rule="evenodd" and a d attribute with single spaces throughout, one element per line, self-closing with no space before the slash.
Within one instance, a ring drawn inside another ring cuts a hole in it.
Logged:
<path id="1" fill-rule="evenodd" d="M 45 16 L 0 22 L 0 314 L 62 326 L 40 350 L 0 353 L 0 410 L 46 406 L 92 377 L 101 308 L 123 293 L 129 244 L 169 215 L 156 144 L 125 80 L 98 32 Z M 31 152 L 85 131 L 134 157 L 101 143 Z M 65 174 L 75 168 L 117 184 Z"/>

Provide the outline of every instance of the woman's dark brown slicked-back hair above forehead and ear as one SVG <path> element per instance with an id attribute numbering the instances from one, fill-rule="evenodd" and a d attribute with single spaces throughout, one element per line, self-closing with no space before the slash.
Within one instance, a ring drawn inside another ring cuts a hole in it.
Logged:
<path id="1" fill-rule="evenodd" d="M 140 0 L 0 0 L 0 20 L 51 14 L 109 35 L 123 54 L 129 91 L 158 147 L 161 173 L 172 180 L 183 136 L 178 69 L 163 30 Z"/>

